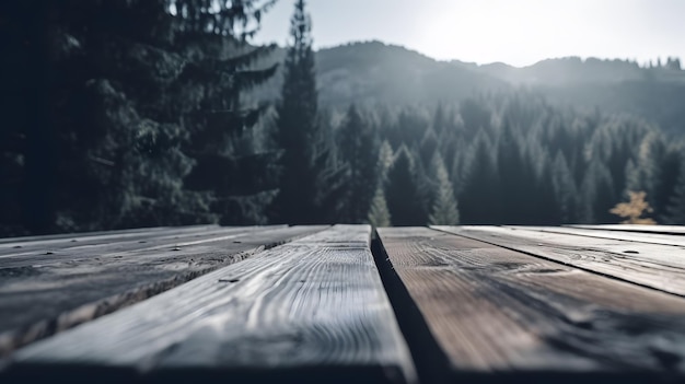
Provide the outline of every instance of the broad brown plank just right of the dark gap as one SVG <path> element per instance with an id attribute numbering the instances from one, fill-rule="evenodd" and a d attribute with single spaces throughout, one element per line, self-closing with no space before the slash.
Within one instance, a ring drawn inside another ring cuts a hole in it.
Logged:
<path id="1" fill-rule="evenodd" d="M 425 228 L 379 234 L 402 283 L 391 299 L 417 307 L 408 321 L 425 322 L 421 354 L 444 381 L 685 377 L 682 298 Z"/>

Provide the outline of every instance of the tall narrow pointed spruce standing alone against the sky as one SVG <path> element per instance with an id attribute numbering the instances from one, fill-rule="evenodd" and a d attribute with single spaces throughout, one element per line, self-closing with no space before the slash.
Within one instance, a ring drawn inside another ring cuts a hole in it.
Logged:
<path id="1" fill-rule="evenodd" d="M 275 142 L 280 155 L 279 191 L 272 220 L 290 224 L 329 222 L 341 208 L 340 166 L 317 117 L 318 101 L 312 22 L 305 1 L 298 0 L 291 19 L 291 46 L 285 62 L 281 101 L 277 107 Z"/>

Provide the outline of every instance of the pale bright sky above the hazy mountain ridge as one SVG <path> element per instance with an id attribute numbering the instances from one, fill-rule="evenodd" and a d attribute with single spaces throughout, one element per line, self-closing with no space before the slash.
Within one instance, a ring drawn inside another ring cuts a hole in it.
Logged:
<path id="1" fill-rule="evenodd" d="M 255 43 L 288 42 L 293 0 L 263 18 Z M 439 60 L 619 58 L 685 62 L 685 0 L 309 0 L 314 48 L 381 40 Z"/>

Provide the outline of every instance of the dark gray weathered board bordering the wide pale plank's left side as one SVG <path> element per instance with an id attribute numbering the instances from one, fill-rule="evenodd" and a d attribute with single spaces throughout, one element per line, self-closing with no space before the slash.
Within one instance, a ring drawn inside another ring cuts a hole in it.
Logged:
<path id="1" fill-rule="evenodd" d="M 92 253 L 90 258 L 0 269 L 13 271 L 0 276 L 0 356 L 323 229 L 231 229 L 174 248 Z"/>

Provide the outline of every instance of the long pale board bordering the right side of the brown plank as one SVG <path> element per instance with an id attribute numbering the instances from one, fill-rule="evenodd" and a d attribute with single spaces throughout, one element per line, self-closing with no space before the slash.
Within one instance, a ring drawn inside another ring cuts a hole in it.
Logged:
<path id="1" fill-rule="evenodd" d="M 681 247 L 501 226 L 433 228 L 685 295 L 685 251 Z"/>

